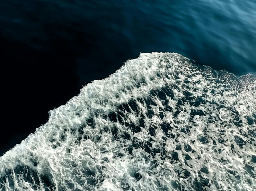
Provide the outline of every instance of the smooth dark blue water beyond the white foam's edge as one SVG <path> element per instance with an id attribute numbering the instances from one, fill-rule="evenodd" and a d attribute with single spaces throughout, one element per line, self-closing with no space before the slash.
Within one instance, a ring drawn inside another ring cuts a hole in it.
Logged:
<path id="1" fill-rule="evenodd" d="M 176 52 L 214 69 L 255 73 L 255 10 L 254 0 L 1 1 L 0 62 L 8 76 L 1 154 L 83 85 L 141 52 Z"/>

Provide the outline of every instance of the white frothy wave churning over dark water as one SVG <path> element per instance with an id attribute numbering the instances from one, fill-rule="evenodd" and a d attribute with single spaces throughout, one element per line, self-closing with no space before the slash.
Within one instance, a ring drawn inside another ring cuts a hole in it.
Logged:
<path id="1" fill-rule="evenodd" d="M 3 155 L 0 188 L 254 190 L 255 105 L 255 74 L 142 53 Z"/>

